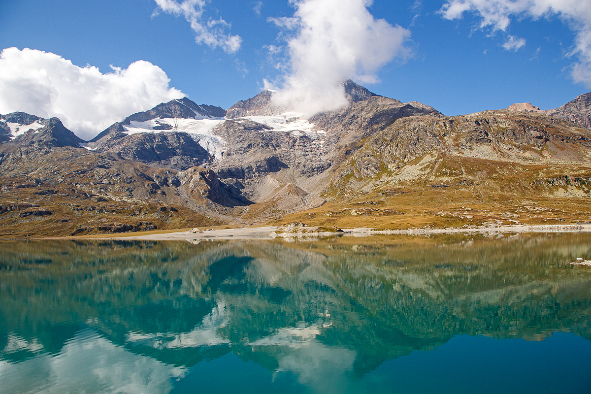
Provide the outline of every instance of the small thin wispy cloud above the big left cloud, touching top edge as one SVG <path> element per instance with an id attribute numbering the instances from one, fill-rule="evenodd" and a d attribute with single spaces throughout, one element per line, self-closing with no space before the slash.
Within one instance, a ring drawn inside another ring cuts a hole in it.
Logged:
<path id="1" fill-rule="evenodd" d="M 176 17 L 183 16 L 190 23 L 195 32 L 197 44 L 207 44 L 212 48 L 222 47 L 226 53 L 236 53 L 241 47 L 242 38 L 239 35 L 226 33 L 230 24 L 223 20 L 204 17 L 205 6 L 208 0 L 184 0 L 181 3 L 175 0 L 155 0 L 158 7 L 168 14 Z"/>

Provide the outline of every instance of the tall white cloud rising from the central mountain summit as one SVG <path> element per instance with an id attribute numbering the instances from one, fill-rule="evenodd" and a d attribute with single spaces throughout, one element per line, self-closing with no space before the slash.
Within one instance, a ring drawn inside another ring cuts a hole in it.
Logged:
<path id="1" fill-rule="evenodd" d="M 346 105 L 342 83 L 354 79 L 375 83 L 377 71 L 410 50 L 410 32 L 375 19 L 371 0 L 291 0 L 293 17 L 269 18 L 287 39 L 287 57 L 277 69 L 287 68 L 278 105 L 305 116 Z M 273 47 L 277 48 L 277 47 Z"/>

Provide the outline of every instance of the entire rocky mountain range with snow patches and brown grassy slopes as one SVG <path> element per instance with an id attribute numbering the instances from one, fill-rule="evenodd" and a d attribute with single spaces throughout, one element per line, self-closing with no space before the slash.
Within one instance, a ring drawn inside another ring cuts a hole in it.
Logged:
<path id="1" fill-rule="evenodd" d="M 0 115 L 0 236 L 591 220 L 591 93 L 444 116 L 343 87 L 348 106 L 308 119 L 271 90 L 228 110 L 184 97 L 91 141 Z"/>

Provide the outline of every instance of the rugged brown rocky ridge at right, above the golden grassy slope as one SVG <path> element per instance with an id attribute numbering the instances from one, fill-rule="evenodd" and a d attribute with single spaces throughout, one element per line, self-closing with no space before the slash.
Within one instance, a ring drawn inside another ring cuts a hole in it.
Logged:
<path id="1" fill-rule="evenodd" d="M 475 183 L 476 178 L 463 179 L 466 172 L 459 171 L 462 166 L 457 163 L 465 158 L 524 165 L 549 159 L 583 164 L 591 158 L 591 133 L 543 115 L 517 116 L 504 110 L 451 118 L 411 116 L 372 133 L 352 150 L 333 168 L 333 184 L 326 189 L 339 198 L 358 195 L 360 182 L 379 179 L 394 184 L 434 179 L 447 185 Z M 447 163 L 446 172 L 438 174 L 442 163 Z"/>

